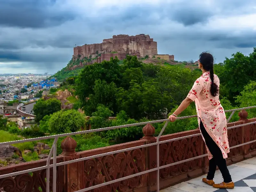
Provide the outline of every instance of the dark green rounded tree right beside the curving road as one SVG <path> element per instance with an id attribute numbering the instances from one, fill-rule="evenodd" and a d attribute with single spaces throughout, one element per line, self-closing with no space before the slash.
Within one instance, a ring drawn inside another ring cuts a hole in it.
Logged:
<path id="1" fill-rule="evenodd" d="M 36 122 L 43 119 L 44 116 L 53 114 L 61 109 L 61 102 L 56 99 L 43 100 L 40 99 L 34 105 L 34 114 Z"/>

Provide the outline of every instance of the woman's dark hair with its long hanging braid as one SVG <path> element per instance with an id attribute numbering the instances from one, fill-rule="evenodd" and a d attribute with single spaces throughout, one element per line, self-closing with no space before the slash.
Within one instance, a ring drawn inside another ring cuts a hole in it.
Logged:
<path id="1" fill-rule="evenodd" d="M 203 65 L 204 70 L 210 71 L 210 78 L 211 82 L 211 94 L 213 97 L 219 94 L 219 87 L 213 82 L 214 80 L 214 73 L 213 73 L 213 56 L 211 53 L 202 52 L 199 56 L 199 61 Z"/>

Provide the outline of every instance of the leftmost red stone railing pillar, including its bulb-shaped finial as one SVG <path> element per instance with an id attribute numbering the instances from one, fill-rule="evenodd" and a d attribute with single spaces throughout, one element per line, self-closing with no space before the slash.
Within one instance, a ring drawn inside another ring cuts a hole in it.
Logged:
<path id="1" fill-rule="evenodd" d="M 64 156 L 64 161 L 70 161 L 77 159 L 76 154 L 76 141 L 71 137 L 66 137 L 61 142 L 61 155 Z M 82 162 L 76 162 L 64 165 L 64 188 L 65 192 L 73 192 L 81 189 L 80 178 L 81 178 L 81 167 Z"/>

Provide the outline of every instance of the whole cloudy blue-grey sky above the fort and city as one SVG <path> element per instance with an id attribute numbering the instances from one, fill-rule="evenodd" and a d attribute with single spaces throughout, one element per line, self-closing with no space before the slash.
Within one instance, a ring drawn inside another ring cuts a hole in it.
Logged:
<path id="1" fill-rule="evenodd" d="M 55 73 L 76 45 L 149 34 L 158 54 L 223 62 L 256 46 L 256 0 L 0 0 L 0 74 Z"/>

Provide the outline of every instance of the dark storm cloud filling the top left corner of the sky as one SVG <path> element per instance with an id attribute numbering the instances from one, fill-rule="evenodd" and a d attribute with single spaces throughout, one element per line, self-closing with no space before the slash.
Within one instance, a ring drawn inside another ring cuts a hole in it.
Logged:
<path id="1" fill-rule="evenodd" d="M 43 28 L 75 18 L 71 12 L 60 11 L 57 5 L 54 6 L 55 0 L 0 0 L 0 25 Z"/>

